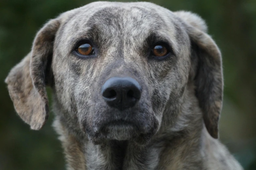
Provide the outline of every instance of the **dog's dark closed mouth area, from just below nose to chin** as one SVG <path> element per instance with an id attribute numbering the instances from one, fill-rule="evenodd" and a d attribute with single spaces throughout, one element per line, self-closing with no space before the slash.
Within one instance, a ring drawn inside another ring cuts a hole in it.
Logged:
<path id="1" fill-rule="evenodd" d="M 158 129 L 159 123 L 151 109 L 136 107 L 120 111 L 91 108 L 92 117 L 84 119 L 81 124 L 82 130 L 94 144 L 109 140 L 130 140 L 144 144 Z"/>

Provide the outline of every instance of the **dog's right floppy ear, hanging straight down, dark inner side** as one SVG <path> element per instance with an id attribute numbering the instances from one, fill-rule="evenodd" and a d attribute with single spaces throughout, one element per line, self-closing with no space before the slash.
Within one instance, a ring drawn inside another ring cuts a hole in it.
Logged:
<path id="1" fill-rule="evenodd" d="M 196 96 L 203 112 L 209 134 L 218 138 L 218 120 L 222 107 L 223 75 L 221 53 L 206 33 L 205 22 L 196 14 L 175 13 L 183 21 L 191 41 L 190 80 L 194 81 Z"/>

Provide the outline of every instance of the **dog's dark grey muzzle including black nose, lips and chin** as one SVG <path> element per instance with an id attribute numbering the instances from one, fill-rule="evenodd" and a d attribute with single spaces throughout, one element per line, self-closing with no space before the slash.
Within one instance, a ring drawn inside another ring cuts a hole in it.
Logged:
<path id="1" fill-rule="evenodd" d="M 112 76 L 97 83 L 90 107 L 91 117 L 82 122 L 91 141 L 149 141 L 157 123 L 148 88 L 143 78 L 137 77 Z"/>

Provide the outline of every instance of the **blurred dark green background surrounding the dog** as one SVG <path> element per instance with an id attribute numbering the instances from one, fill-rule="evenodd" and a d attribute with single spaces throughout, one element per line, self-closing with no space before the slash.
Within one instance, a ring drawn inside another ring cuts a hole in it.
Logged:
<path id="1" fill-rule="evenodd" d="M 87 0 L 0 0 L 0 170 L 65 168 L 51 124 L 32 131 L 15 113 L 8 71 L 29 51 L 40 27 Z M 220 139 L 246 170 L 256 169 L 256 0 L 152 0 L 172 11 L 198 13 L 223 55 L 224 105 Z M 49 98 L 51 101 L 50 89 Z"/>

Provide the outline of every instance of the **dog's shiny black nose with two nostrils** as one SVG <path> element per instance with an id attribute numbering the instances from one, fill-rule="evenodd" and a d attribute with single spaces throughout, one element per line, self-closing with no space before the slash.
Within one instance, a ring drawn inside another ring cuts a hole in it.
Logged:
<path id="1" fill-rule="evenodd" d="M 101 92 L 109 106 L 124 110 L 133 107 L 140 99 L 141 86 L 130 77 L 112 77 L 103 84 Z"/>

